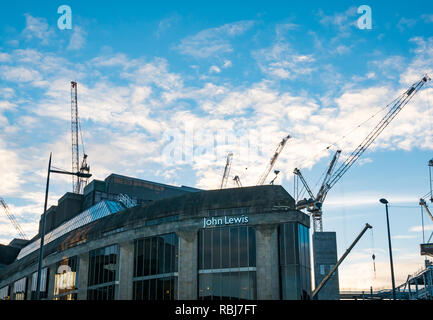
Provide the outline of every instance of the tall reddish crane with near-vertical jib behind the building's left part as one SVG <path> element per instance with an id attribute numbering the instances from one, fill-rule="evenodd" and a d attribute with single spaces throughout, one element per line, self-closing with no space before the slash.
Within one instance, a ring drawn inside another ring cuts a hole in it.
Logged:
<path id="1" fill-rule="evenodd" d="M 81 134 L 81 142 L 83 145 L 83 160 L 79 162 L 80 149 L 78 135 Z M 89 173 L 90 167 L 87 164 L 87 154 L 84 152 L 83 136 L 80 127 L 80 118 L 78 117 L 78 102 L 77 102 L 77 82 L 71 81 L 71 137 L 72 137 L 72 172 Z M 88 178 L 72 176 L 72 191 L 74 193 L 83 193 L 84 187 L 87 185 Z"/>

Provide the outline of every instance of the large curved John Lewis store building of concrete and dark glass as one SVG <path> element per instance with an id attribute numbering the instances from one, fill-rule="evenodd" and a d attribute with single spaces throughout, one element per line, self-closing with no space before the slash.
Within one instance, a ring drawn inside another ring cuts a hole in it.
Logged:
<path id="1" fill-rule="evenodd" d="M 201 191 L 111 175 L 47 211 L 41 297 L 308 299 L 309 216 L 281 186 Z M 0 299 L 33 299 L 35 236 L 0 270 Z"/>

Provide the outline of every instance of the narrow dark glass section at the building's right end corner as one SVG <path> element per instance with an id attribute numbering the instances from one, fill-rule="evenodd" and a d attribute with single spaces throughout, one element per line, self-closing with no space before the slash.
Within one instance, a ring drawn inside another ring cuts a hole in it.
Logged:
<path id="1" fill-rule="evenodd" d="M 281 298 L 305 300 L 311 294 L 310 238 L 308 228 L 285 223 L 279 230 Z"/>

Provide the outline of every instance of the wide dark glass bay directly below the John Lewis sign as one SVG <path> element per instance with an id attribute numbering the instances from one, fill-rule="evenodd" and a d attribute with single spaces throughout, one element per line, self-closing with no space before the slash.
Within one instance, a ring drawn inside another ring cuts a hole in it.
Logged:
<path id="1" fill-rule="evenodd" d="M 252 227 L 199 231 L 200 300 L 256 299 L 256 234 Z"/>

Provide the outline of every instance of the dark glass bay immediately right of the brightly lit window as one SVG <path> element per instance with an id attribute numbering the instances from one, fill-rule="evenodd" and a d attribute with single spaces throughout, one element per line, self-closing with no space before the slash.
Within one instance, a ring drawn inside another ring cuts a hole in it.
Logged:
<path id="1" fill-rule="evenodd" d="M 118 245 L 90 251 L 87 300 L 114 300 L 118 284 L 118 256 Z"/>

